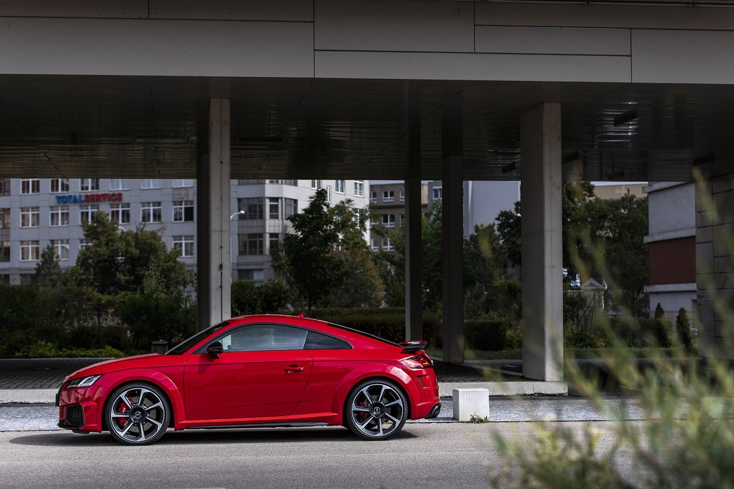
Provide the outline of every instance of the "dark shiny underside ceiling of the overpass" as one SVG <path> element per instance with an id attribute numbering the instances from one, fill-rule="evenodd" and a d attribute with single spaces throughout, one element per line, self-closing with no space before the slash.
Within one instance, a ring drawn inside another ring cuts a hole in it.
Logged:
<path id="1" fill-rule="evenodd" d="M 445 90 L 464 106 L 465 179 L 518 180 L 520 114 L 562 103 L 564 178 L 688 180 L 734 157 L 727 86 L 323 78 L 0 76 L 0 174 L 195 177 L 209 98 L 232 100 L 233 178 L 401 179 L 406 87 L 423 177 L 441 176 Z"/>

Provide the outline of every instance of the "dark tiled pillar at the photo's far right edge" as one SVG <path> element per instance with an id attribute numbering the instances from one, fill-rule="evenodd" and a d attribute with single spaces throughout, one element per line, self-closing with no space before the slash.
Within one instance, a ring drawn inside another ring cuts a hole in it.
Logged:
<path id="1" fill-rule="evenodd" d="M 708 358 L 734 359 L 733 167 L 718 156 L 694 167 L 698 348 Z"/>

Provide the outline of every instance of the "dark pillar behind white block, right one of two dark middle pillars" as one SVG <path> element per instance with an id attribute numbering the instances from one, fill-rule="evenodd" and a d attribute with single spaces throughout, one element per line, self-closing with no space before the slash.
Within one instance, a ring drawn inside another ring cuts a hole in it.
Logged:
<path id="1" fill-rule="evenodd" d="M 443 361 L 464 362 L 462 95 L 443 97 Z"/>

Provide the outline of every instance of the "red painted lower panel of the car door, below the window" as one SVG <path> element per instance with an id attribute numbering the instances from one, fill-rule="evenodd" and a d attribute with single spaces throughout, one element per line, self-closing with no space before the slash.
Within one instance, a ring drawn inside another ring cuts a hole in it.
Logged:
<path id="1" fill-rule="evenodd" d="M 288 416 L 311 366 L 305 350 L 193 353 L 184 369 L 186 419 Z"/>

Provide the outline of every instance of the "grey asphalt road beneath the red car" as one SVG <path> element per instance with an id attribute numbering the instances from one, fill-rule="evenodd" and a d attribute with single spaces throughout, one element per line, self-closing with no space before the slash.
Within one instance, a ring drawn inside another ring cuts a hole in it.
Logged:
<path id="1" fill-rule="evenodd" d="M 106 433 L 7 432 L 0 487 L 487 488 L 487 473 L 499 468 L 492 430 L 527 441 L 536 426 L 407 424 L 377 442 L 340 427 L 191 430 L 151 446 L 121 446 Z"/>

